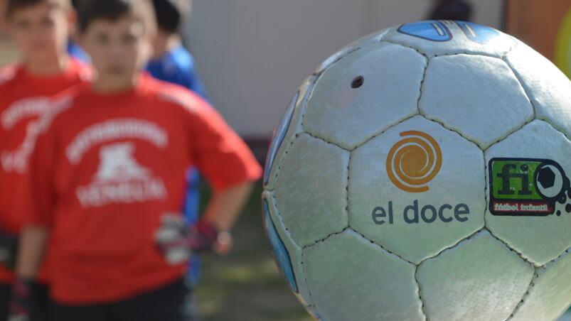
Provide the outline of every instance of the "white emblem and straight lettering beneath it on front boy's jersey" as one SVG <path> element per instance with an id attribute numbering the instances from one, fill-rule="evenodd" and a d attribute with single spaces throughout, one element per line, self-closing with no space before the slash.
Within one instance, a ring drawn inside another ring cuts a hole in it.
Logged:
<path id="1" fill-rule="evenodd" d="M 149 168 L 137 162 L 133 143 L 114 143 L 100 149 L 100 164 L 90 185 L 77 190 L 82 207 L 164 200 L 166 187 Z"/>

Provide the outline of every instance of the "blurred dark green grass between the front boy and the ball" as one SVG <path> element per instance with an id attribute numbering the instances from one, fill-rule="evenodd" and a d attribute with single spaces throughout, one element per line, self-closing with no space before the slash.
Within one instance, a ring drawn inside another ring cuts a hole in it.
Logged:
<path id="1" fill-rule="evenodd" d="M 257 185 L 234 229 L 233 252 L 203 256 L 203 280 L 197 289 L 201 320 L 312 320 L 272 258 L 262 227 L 261 193 Z M 208 191 L 201 195 L 204 206 Z"/>

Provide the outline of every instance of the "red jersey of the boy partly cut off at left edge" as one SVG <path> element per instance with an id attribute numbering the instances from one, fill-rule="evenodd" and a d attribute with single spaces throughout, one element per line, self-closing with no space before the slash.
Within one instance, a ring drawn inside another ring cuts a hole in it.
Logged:
<path id="1" fill-rule="evenodd" d="M 90 69 L 70 60 L 65 72 L 50 77 L 29 74 L 21 65 L 0 71 L 0 232 L 18 234 L 21 213 L 14 211 L 15 191 L 26 174 L 33 151 L 33 122 L 50 107 L 50 97 L 89 77 Z M 11 282 L 13 273 L 0 266 L 0 283 Z"/>

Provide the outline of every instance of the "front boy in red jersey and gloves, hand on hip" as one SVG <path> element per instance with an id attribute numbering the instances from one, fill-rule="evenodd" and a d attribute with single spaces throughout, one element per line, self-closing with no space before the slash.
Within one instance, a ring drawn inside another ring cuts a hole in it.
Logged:
<path id="1" fill-rule="evenodd" d="M 42 121 L 18 277 L 36 277 L 49 236 L 55 320 L 188 320 L 188 257 L 160 244 L 182 217 L 186 169 L 214 192 L 181 243 L 223 250 L 260 165 L 196 94 L 141 72 L 155 30 L 148 0 L 85 0 L 79 16 L 97 76 Z"/>

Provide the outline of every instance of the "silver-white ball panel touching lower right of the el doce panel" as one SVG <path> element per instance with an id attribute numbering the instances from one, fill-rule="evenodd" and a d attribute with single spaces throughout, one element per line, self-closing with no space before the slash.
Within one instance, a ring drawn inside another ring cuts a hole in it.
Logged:
<path id="1" fill-rule="evenodd" d="M 506 320 L 533 272 L 485 231 L 420 264 L 417 279 L 428 320 Z"/>

